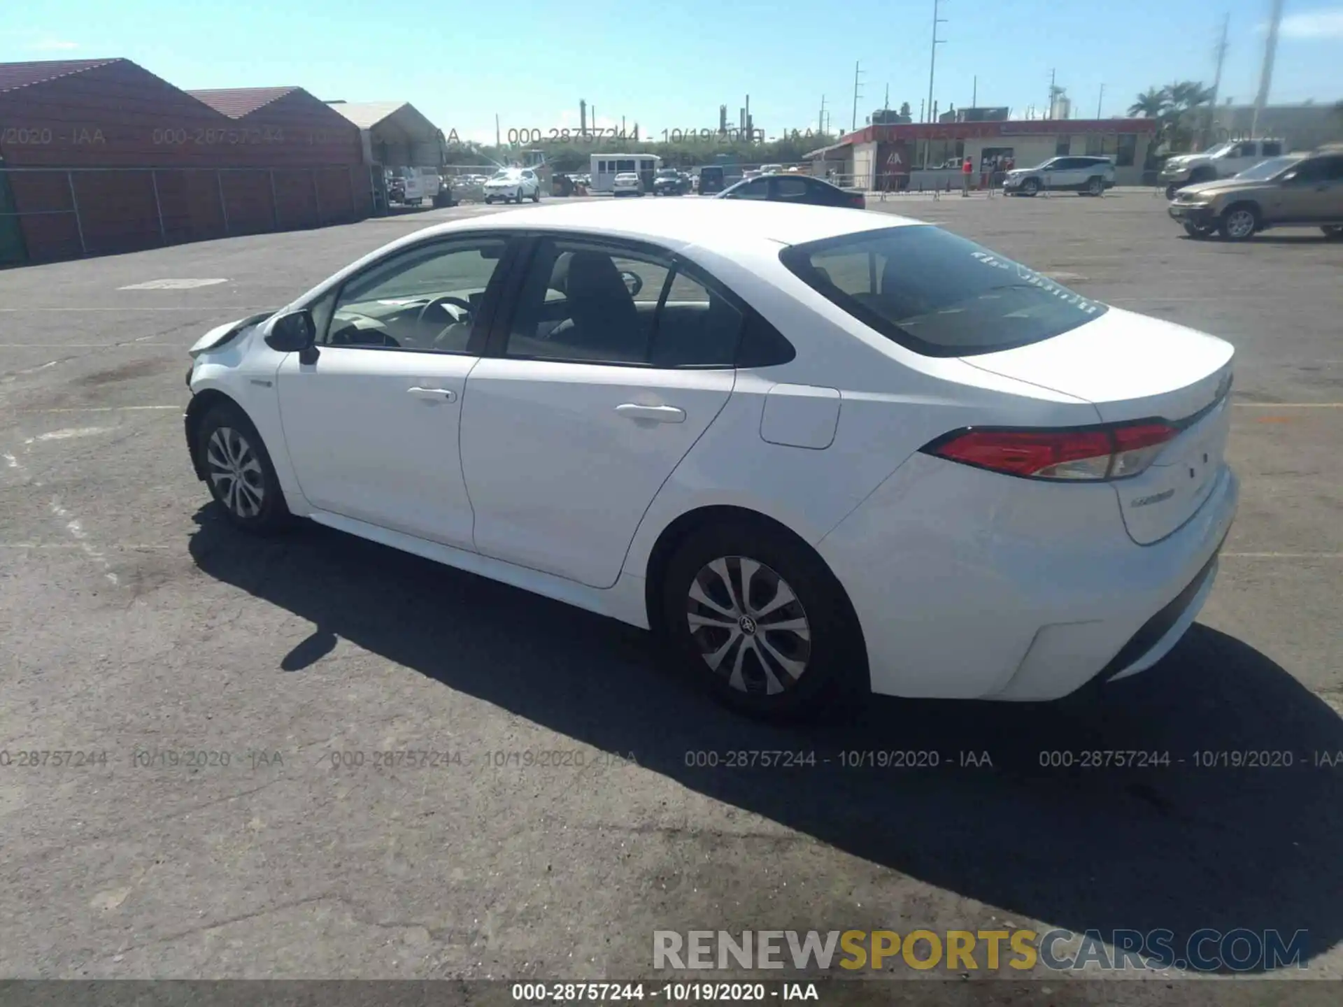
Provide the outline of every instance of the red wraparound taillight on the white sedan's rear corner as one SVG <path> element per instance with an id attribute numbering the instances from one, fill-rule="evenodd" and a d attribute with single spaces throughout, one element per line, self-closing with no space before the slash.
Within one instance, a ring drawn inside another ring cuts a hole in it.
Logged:
<path id="1" fill-rule="evenodd" d="M 1136 475 L 1179 431 L 1164 423 L 1082 430 L 966 430 L 924 450 L 979 469 L 1034 479 Z"/>

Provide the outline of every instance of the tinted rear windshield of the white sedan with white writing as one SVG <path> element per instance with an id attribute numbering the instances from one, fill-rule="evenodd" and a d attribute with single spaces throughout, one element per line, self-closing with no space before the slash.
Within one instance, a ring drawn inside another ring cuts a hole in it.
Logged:
<path id="1" fill-rule="evenodd" d="M 858 321 L 929 357 L 1026 346 L 1108 310 L 1035 270 L 928 224 L 795 244 L 779 258 Z"/>

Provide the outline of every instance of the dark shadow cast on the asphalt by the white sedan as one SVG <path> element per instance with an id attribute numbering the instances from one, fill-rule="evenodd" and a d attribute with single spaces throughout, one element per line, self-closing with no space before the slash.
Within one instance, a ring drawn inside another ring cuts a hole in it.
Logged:
<path id="1" fill-rule="evenodd" d="M 200 571 L 316 627 L 277 673 L 302 673 L 342 638 L 847 854 L 1077 933 L 1167 928 L 1180 947 L 1201 928 L 1305 929 L 1311 957 L 1343 939 L 1343 768 L 1304 761 L 1343 751 L 1343 722 L 1222 632 L 1195 626 L 1096 705 L 876 700 L 784 729 L 720 709 L 627 626 L 308 522 L 258 540 L 215 505 L 196 521 Z M 688 757 L 780 749 L 817 761 Z M 1295 764 L 1233 769 L 1217 755 L 1270 751 Z M 940 761 L 853 755 L 869 752 Z M 1060 752 L 1167 752 L 1168 764 L 1050 765 Z"/>

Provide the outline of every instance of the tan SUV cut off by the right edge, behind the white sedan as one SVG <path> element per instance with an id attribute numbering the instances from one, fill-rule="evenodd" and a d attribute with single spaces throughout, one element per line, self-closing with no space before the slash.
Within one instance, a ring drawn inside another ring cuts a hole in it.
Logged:
<path id="1" fill-rule="evenodd" d="M 1190 238 L 1242 242 L 1269 227 L 1319 227 L 1343 239 L 1343 149 L 1288 154 L 1180 189 L 1170 215 Z"/>

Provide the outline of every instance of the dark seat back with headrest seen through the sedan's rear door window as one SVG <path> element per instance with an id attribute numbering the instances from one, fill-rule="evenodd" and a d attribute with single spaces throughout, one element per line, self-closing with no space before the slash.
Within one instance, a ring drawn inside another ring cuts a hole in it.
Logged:
<path id="1" fill-rule="evenodd" d="M 573 252 L 564 290 L 569 317 L 555 328 L 552 340 L 607 360 L 642 360 L 639 313 L 610 255 Z"/>

